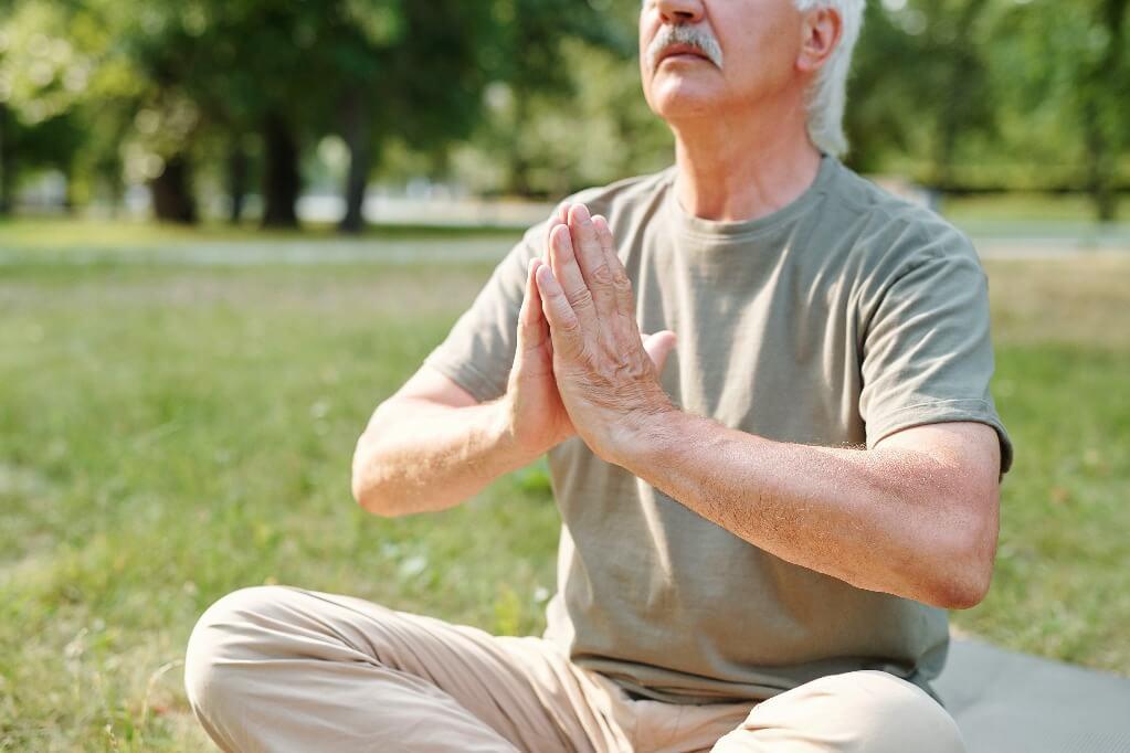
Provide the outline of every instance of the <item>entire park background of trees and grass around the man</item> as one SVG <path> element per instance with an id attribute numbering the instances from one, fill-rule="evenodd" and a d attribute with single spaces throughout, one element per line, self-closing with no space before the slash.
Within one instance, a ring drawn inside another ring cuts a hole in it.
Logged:
<path id="1" fill-rule="evenodd" d="M 525 226 L 671 163 L 637 12 L 0 0 L 0 750 L 208 750 L 181 659 L 241 586 L 541 630 L 544 463 L 381 519 L 349 461 Z M 846 158 L 990 279 L 1017 456 L 955 631 L 1122 675 L 1128 27 L 1127 0 L 871 1 Z"/>

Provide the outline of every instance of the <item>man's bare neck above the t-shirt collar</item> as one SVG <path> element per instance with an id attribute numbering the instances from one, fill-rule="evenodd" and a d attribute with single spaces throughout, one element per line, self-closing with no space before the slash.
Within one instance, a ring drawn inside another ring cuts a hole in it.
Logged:
<path id="1" fill-rule="evenodd" d="M 802 120 L 777 114 L 671 123 L 676 195 L 687 212 L 709 220 L 753 220 L 788 205 L 812 185 L 820 152 Z"/>

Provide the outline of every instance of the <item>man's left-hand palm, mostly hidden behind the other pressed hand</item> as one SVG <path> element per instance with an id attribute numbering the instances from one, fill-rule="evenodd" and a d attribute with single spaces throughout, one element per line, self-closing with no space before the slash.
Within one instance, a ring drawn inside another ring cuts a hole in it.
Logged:
<path id="1" fill-rule="evenodd" d="M 568 204 L 562 205 L 549 221 L 547 249 L 554 228 L 567 225 L 568 209 Z M 501 401 L 514 444 L 533 457 L 540 457 L 576 434 L 557 392 L 549 322 L 541 310 L 541 296 L 533 279 L 538 266 L 546 263 L 545 257 L 534 257 L 527 270 L 525 295 L 518 314 L 518 347 L 506 394 Z M 655 335 L 644 335 L 644 349 L 655 369 L 662 373 L 670 352 L 669 342 L 662 342 Z"/>

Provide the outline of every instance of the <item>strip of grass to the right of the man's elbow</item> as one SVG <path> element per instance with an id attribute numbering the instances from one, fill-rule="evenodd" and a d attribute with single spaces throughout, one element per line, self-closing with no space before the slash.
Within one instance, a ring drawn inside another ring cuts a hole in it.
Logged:
<path id="1" fill-rule="evenodd" d="M 989 598 L 954 623 L 1130 675 L 1130 257 L 988 271 L 1017 456 Z"/>

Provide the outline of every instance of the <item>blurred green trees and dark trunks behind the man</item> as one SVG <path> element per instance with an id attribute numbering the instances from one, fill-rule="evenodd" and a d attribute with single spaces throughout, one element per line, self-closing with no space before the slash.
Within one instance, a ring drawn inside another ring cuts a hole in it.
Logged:
<path id="1" fill-rule="evenodd" d="M 940 190 L 1130 187 L 1130 0 L 873 0 L 851 81 L 852 166 Z M 294 225 L 345 147 L 344 227 L 374 178 L 558 196 L 652 172 L 671 137 L 640 90 L 636 0 L 7 0 L 0 209 L 54 169 L 67 202 L 157 214 L 199 195 Z M 258 184 L 258 187 L 255 187 Z"/>

